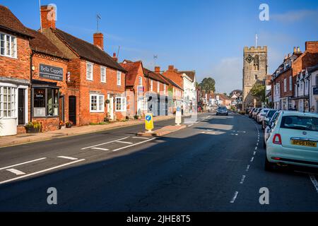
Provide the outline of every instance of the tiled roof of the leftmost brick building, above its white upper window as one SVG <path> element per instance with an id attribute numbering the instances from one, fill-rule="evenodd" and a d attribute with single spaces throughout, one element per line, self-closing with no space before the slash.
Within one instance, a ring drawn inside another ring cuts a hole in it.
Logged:
<path id="1" fill-rule="evenodd" d="M 14 16 L 14 14 L 6 6 L 0 5 L 0 28 L 4 28 L 20 35 L 32 37 L 28 33 L 27 28 Z"/>

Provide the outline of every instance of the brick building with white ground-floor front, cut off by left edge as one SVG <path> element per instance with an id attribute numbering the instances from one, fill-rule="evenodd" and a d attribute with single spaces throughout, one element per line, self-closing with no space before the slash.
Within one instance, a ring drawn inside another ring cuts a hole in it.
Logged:
<path id="1" fill-rule="evenodd" d="M 0 5 L 0 136 L 14 135 L 28 122 L 32 35 Z"/>

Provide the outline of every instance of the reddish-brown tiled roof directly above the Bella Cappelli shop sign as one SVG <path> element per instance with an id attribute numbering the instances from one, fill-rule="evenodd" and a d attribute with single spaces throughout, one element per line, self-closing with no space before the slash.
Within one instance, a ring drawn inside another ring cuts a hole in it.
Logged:
<path id="1" fill-rule="evenodd" d="M 33 51 L 66 59 L 64 54 L 45 35 L 30 28 L 27 30 L 30 35 L 35 37 L 30 40 L 30 47 Z"/>

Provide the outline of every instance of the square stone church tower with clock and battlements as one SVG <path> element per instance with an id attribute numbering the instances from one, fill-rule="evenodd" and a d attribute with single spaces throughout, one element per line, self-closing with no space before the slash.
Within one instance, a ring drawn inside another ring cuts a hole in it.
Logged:
<path id="1" fill-rule="evenodd" d="M 243 109 L 254 107 L 254 97 L 249 92 L 255 83 L 265 83 L 266 76 L 267 47 L 244 47 Z"/>

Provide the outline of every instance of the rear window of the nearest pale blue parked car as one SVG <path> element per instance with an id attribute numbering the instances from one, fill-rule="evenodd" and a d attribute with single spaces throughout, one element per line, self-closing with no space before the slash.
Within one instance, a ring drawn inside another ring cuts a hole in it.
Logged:
<path id="1" fill-rule="evenodd" d="M 318 131 L 318 118 L 296 115 L 284 116 L 281 119 L 281 128 Z"/>

